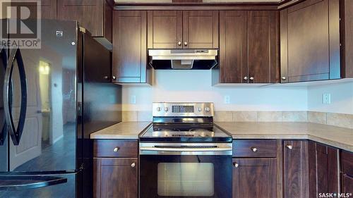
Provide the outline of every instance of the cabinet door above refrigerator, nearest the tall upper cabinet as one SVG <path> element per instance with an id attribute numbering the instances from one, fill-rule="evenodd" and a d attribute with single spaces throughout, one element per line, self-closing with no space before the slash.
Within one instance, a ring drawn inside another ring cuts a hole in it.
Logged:
<path id="1" fill-rule="evenodd" d="M 58 0 L 59 20 L 78 20 L 93 37 L 103 37 L 105 0 Z"/>

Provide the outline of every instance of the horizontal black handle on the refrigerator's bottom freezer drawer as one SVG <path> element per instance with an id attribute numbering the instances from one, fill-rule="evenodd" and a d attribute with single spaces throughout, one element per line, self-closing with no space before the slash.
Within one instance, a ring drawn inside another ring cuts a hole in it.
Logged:
<path id="1" fill-rule="evenodd" d="M 4 175 L 0 176 L 0 190 L 26 190 L 66 182 L 67 178 L 53 176 Z"/>

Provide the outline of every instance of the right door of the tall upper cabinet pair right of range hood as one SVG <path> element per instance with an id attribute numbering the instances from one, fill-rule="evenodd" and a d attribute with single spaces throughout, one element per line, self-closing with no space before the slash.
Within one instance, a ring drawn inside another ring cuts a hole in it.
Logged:
<path id="1" fill-rule="evenodd" d="M 278 12 L 248 12 L 249 82 L 279 81 Z"/>

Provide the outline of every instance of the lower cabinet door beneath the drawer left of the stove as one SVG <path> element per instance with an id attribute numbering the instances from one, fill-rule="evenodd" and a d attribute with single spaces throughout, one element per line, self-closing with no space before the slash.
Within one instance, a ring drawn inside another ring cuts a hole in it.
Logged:
<path id="1" fill-rule="evenodd" d="M 93 159 L 93 197 L 137 198 L 137 158 Z"/>

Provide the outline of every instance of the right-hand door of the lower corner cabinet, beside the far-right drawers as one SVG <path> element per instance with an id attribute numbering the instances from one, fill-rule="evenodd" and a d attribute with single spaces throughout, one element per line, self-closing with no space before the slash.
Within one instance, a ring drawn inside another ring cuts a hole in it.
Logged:
<path id="1" fill-rule="evenodd" d="M 310 197 L 318 197 L 319 193 L 338 192 L 340 185 L 338 178 L 338 149 L 310 141 Z"/>

